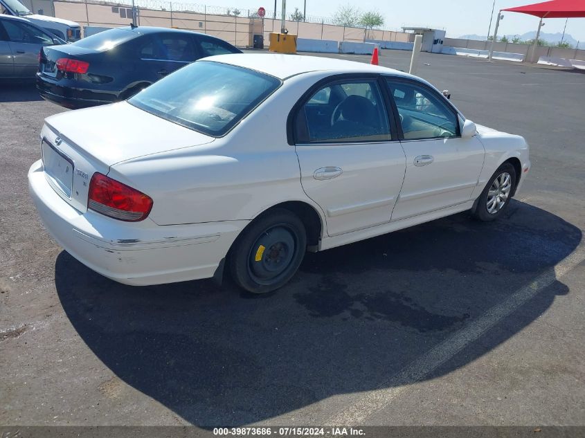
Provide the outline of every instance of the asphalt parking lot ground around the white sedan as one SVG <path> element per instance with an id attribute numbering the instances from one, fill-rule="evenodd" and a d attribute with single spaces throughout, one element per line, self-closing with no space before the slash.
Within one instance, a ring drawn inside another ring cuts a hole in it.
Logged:
<path id="1" fill-rule="evenodd" d="M 0 85 L 0 425 L 584 426 L 585 74 L 422 53 L 417 75 L 528 140 L 505 218 L 307 254 L 262 296 L 124 286 L 64 252 L 26 173 L 65 110 Z"/>

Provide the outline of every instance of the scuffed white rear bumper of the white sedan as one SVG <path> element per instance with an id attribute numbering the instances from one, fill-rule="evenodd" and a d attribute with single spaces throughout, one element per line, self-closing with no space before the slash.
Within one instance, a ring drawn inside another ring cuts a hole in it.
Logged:
<path id="1" fill-rule="evenodd" d="M 145 286 L 213 277 L 248 221 L 159 226 L 152 220 L 116 221 L 69 206 L 51 188 L 42 162 L 28 186 L 46 230 L 75 259 L 123 284 Z"/>

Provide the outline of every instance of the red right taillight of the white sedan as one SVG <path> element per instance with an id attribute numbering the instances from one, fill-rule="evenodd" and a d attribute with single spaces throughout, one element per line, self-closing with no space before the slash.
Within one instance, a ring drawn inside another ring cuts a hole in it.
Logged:
<path id="1" fill-rule="evenodd" d="M 87 208 L 120 221 L 136 222 L 146 219 L 152 209 L 152 199 L 96 172 L 89 182 Z"/>

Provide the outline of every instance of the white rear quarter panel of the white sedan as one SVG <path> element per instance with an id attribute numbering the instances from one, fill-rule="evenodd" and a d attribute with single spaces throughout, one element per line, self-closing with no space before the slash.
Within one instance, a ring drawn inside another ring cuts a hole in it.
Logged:
<path id="1" fill-rule="evenodd" d="M 285 201 L 308 203 L 325 224 L 300 185 L 298 158 L 286 133 L 291 107 L 320 77 L 287 80 L 210 145 L 124 161 L 109 176 L 152 197 L 150 217 L 161 225 L 253 219 Z"/>

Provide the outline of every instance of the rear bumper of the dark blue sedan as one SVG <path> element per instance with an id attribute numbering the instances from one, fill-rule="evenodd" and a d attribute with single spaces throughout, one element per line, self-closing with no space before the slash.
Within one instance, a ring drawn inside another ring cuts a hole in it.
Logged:
<path id="1" fill-rule="evenodd" d="M 119 93 L 80 88 L 79 84 L 71 80 L 57 81 L 42 73 L 37 73 L 36 81 L 37 90 L 42 98 L 66 108 L 95 107 L 118 101 Z"/>

